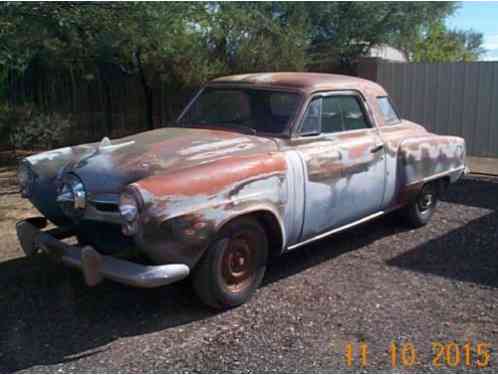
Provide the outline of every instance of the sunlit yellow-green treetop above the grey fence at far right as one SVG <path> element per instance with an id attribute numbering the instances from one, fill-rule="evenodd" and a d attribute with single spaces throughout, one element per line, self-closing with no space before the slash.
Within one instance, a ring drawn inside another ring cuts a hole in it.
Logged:
<path id="1" fill-rule="evenodd" d="M 414 44 L 415 62 L 476 61 L 483 53 L 482 34 L 474 31 L 448 30 L 443 22 L 427 28 Z"/>

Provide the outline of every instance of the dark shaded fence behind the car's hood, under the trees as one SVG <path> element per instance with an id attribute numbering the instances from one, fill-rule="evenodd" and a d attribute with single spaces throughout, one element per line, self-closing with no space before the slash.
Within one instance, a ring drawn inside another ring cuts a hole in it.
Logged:
<path id="1" fill-rule="evenodd" d="M 172 88 L 152 82 L 152 118 L 155 127 L 174 120 L 197 88 Z M 138 76 L 93 77 L 69 71 L 29 71 L 9 77 L 9 100 L 26 103 L 47 113 L 70 115 L 73 126 L 65 144 L 120 137 L 147 129 L 145 94 Z"/>

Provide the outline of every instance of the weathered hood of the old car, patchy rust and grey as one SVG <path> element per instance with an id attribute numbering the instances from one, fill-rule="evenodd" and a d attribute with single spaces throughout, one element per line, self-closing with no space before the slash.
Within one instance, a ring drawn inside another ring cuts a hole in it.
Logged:
<path id="1" fill-rule="evenodd" d="M 100 143 L 66 147 L 28 158 L 35 172 L 78 175 L 92 194 L 116 194 L 143 178 L 169 174 L 234 155 L 271 152 L 270 138 L 232 131 L 161 128 Z M 31 160 L 30 160 L 31 159 Z"/>

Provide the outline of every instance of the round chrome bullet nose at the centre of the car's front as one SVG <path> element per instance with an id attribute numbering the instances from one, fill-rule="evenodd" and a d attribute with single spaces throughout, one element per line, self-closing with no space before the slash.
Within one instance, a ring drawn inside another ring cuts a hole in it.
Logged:
<path id="1" fill-rule="evenodd" d="M 67 174 L 63 177 L 57 202 L 67 216 L 74 218 L 83 215 L 86 208 L 86 193 L 85 187 L 78 177 L 73 174 Z"/>

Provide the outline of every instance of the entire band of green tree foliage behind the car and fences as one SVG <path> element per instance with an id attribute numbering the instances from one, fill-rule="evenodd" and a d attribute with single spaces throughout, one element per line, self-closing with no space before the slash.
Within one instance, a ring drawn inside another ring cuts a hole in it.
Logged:
<path id="1" fill-rule="evenodd" d="M 7 72 L 31 71 L 36 77 L 69 71 L 73 83 L 74 77 L 102 82 L 110 132 L 109 85 L 130 75 L 140 78 L 144 120 L 152 127 L 153 88 L 159 85 L 175 93 L 225 74 L 300 71 L 323 62 L 350 68 L 383 43 L 409 51 L 417 61 L 473 60 L 482 44 L 479 34 L 438 29 L 455 7 L 453 2 L 3 2 L 0 103 L 2 93 L 8 95 Z M 49 90 L 46 86 L 37 86 L 36 95 Z"/>

